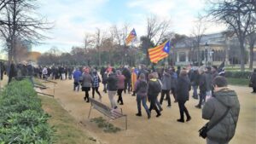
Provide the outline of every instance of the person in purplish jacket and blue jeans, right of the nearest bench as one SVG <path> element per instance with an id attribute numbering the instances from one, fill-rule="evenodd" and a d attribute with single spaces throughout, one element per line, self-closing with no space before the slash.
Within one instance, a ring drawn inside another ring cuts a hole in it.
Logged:
<path id="1" fill-rule="evenodd" d="M 139 79 L 137 80 L 135 84 L 135 92 L 137 93 L 137 113 L 136 115 L 138 117 L 142 116 L 142 108 L 141 108 L 141 103 L 143 102 L 143 107 L 145 111 L 148 114 L 148 119 L 151 117 L 151 114 L 148 110 L 148 106 L 146 104 L 147 102 L 147 90 L 148 90 L 148 84 L 145 78 L 145 75 L 142 73 L 139 76 Z"/>

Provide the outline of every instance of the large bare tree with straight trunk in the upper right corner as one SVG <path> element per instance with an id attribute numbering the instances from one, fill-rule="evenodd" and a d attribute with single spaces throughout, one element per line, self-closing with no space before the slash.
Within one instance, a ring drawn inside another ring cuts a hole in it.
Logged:
<path id="1" fill-rule="evenodd" d="M 222 22 L 236 33 L 241 51 L 241 71 L 245 69 L 245 42 L 248 29 L 255 20 L 255 0 L 208 0 L 212 7 L 207 10 L 207 16 L 212 20 Z M 254 24 L 255 25 L 255 24 Z"/>

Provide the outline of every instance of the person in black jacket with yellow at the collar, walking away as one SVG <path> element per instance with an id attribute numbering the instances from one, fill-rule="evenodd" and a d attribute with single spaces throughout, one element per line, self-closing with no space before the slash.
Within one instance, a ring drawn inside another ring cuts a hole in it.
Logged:
<path id="1" fill-rule="evenodd" d="M 161 113 L 158 107 L 156 107 L 157 95 L 161 91 L 161 85 L 157 78 L 154 77 L 154 73 L 148 75 L 148 99 L 150 101 L 149 112 L 153 109 L 157 113 L 156 117 L 160 117 Z"/>

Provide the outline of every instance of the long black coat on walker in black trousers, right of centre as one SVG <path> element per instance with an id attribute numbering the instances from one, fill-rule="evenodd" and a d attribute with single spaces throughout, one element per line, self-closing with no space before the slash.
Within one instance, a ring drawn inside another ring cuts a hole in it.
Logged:
<path id="1" fill-rule="evenodd" d="M 177 78 L 177 101 L 189 101 L 189 90 L 191 84 L 188 76 Z"/>

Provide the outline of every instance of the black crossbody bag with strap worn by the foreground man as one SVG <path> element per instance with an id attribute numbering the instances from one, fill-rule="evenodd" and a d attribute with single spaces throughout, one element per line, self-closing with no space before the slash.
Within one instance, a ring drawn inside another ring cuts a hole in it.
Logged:
<path id="1" fill-rule="evenodd" d="M 222 102 L 220 102 L 220 103 L 222 103 Z M 227 110 L 226 110 L 226 112 L 224 112 L 224 115 L 222 115 L 221 118 L 219 118 L 215 123 L 213 123 L 210 126 L 209 126 L 209 122 L 207 124 L 205 124 L 200 130 L 198 130 L 199 136 L 204 139 L 207 138 L 207 132 L 209 130 L 211 130 L 215 125 L 217 125 L 223 118 L 225 118 L 225 116 L 228 114 L 229 111 L 230 111 L 230 107 L 227 107 Z"/>

